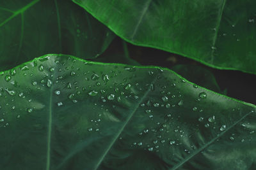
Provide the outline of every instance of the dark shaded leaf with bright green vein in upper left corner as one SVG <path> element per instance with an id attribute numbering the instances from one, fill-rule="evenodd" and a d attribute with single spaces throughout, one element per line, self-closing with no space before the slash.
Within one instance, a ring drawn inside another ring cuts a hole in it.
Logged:
<path id="1" fill-rule="evenodd" d="M 113 37 L 71 0 L 0 1 L 0 70 L 45 53 L 94 58 Z"/>

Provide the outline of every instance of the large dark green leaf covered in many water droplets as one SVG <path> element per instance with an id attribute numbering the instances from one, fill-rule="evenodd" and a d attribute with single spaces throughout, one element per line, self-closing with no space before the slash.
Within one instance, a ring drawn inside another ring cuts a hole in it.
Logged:
<path id="1" fill-rule="evenodd" d="M 256 166 L 255 106 L 169 69 L 45 55 L 0 87 L 0 169 Z"/>

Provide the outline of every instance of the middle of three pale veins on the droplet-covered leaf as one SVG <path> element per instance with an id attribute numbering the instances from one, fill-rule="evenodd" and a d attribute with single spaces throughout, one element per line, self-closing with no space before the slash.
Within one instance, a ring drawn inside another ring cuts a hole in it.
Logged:
<path id="1" fill-rule="evenodd" d="M 157 80 L 157 75 L 154 78 L 154 80 L 152 80 L 152 83 L 154 83 Z M 107 153 L 109 152 L 109 150 L 112 148 L 112 146 L 114 145 L 114 143 L 116 142 L 116 140 L 118 139 L 118 136 L 120 136 L 120 134 L 122 133 L 122 131 L 125 129 L 126 125 L 128 124 L 128 122 L 131 120 L 131 118 L 133 117 L 134 113 L 138 110 L 140 103 L 145 99 L 145 97 L 148 96 L 148 93 L 150 92 L 150 87 L 148 87 L 147 91 L 145 92 L 145 94 L 141 97 L 140 101 L 138 101 L 138 104 L 136 104 L 136 106 L 134 107 L 134 110 L 132 110 L 132 112 L 130 113 L 129 117 L 127 118 L 127 120 L 125 120 L 124 125 L 122 126 L 122 128 L 120 129 L 120 131 L 118 131 L 118 133 L 116 134 L 115 138 L 113 138 L 113 141 L 110 143 L 110 145 L 108 146 L 108 148 L 106 149 L 106 151 L 102 154 L 102 156 L 100 157 L 99 161 L 97 162 L 96 166 L 94 169 L 97 169 L 102 160 L 104 159 L 104 157 L 106 157 Z"/>

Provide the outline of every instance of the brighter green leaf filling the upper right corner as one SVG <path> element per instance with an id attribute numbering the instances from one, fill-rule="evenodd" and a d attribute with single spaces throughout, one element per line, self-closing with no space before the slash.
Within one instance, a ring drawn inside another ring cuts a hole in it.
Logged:
<path id="1" fill-rule="evenodd" d="M 256 73 L 256 1 L 73 0 L 134 45 Z"/>

